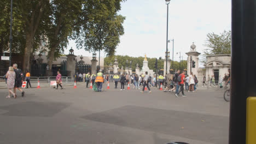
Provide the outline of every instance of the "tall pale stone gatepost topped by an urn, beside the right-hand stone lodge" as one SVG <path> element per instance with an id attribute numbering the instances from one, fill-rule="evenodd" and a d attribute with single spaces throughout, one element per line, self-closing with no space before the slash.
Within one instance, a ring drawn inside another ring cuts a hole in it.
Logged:
<path id="1" fill-rule="evenodd" d="M 188 55 L 188 63 L 187 63 L 187 70 L 188 70 L 188 75 L 190 75 L 190 62 L 191 62 L 191 71 L 193 72 L 194 75 L 197 76 L 197 70 L 199 68 L 199 55 L 201 53 L 197 52 L 196 51 L 196 45 L 193 43 L 191 46 L 190 46 L 190 51 L 186 53 Z M 193 68 L 193 63 L 192 62 L 195 62 L 195 68 Z"/>

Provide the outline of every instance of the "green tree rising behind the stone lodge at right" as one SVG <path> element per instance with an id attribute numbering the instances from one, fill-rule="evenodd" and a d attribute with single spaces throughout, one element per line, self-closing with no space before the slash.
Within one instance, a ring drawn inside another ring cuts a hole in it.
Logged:
<path id="1" fill-rule="evenodd" d="M 220 34 L 208 33 L 206 36 L 207 47 L 203 52 L 203 63 L 206 63 L 206 56 L 230 54 L 231 53 L 231 31 L 224 31 Z"/>

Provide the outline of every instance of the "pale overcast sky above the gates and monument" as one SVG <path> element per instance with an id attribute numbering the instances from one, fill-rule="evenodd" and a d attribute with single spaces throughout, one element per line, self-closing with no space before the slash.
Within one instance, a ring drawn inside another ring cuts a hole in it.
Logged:
<path id="1" fill-rule="evenodd" d="M 125 34 L 120 37 L 115 55 L 133 57 L 165 57 L 167 5 L 164 0 L 127 0 L 121 4 L 119 14 L 126 17 Z M 168 11 L 168 40 L 174 39 L 174 61 L 179 53 L 187 60 L 193 42 L 196 51 L 206 49 L 203 44 L 207 33 L 222 33 L 231 30 L 230 0 L 171 0 Z M 173 43 L 168 43 L 172 57 Z M 68 50 L 73 47 L 75 55 L 91 56 L 92 53 L 75 49 L 69 41 Z M 104 53 L 101 52 L 101 56 Z M 98 53 L 97 53 L 98 57 Z M 202 64 L 200 64 L 202 66 Z"/>

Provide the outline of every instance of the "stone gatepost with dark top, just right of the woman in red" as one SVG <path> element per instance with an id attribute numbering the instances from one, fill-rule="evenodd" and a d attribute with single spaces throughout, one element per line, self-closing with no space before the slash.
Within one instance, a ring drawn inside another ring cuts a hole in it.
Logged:
<path id="1" fill-rule="evenodd" d="M 67 76 L 73 77 L 75 73 L 75 56 L 74 50 L 71 48 L 69 54 L 67 55 Z"/>

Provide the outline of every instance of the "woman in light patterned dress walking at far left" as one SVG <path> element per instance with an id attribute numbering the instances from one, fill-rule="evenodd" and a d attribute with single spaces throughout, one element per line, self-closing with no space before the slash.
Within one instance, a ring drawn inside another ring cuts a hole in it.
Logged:
<path id="1" fill-rule="evenodd" d="M 9 90 L 9 95 L 6 98 L 10 98 L 10 93 L 14 95 L 14 98 L 17 98 L 17 95 L 13 91 L 11 91 L 11 89 L 14 88 L 15 77 L 16 77 L 13 67 L 9 67 L 6 77 L 7 77 L 7 87 Z"/>

